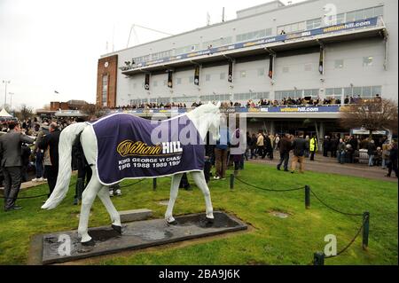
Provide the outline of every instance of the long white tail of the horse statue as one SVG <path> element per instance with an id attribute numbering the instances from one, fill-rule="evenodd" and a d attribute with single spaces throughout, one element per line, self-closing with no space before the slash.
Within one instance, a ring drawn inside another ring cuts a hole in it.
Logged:
<path id="1" fill-rule="evenodd" d="M 66 127 L 59 135 L 59 176 L 57 185 L 50 198 L 43 204 L 43 209 L 56 208 L 64 200 L 71 179 L 72 145 L 76 137 L 87 126 L 85 122 L 77 122 Z"/>

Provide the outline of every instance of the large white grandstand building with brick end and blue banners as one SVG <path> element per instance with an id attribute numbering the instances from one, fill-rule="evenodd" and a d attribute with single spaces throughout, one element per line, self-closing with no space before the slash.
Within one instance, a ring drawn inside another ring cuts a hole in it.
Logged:
<path id="1" fill-rule="evenodd" d="M 105 54 L 97 104 L 334 98 L 328 106 L 237 107 L 271 132 L 340 129 L 345 98 L 397 100 L 396 0 L 273 1 L 228 20 Z M 131 110 L 138 115 L 162 109 Z M 173 109 L 185 112 L 187 109 Z M 316 127 L 315 127 L 316 125 Z"/>

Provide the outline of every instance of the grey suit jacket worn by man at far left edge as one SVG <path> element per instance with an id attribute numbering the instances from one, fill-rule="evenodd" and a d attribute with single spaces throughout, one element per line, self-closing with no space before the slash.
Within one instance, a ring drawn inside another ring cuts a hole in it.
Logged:
<path id="1" fill-rule="evenodd" d="M 35 139 L 26 135 L 10 130 L 8 133 L 0 137 L 0 157 L 1 167 L 22 166 L 21 161 L 21 145 L 22 143 L 33 144 Z"/>

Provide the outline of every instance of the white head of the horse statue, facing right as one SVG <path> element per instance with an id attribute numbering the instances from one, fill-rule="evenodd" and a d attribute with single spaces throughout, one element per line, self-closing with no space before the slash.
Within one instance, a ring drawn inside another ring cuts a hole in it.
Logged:
<path id="1" fill-rule="evenodd" d="M 211 131 L 215 137 L 217 136 L 221 122 L 220 106 L 220 101 L 216 105 L 209 102 L 187 114 L 196 125 L 201 138 L 207 137 L 207 131 Z"/>

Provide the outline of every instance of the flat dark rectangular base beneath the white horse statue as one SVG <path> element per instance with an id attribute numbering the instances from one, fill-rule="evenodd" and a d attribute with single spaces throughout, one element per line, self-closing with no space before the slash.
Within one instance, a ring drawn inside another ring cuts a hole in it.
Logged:
<path id="1" fill-rule="evenodd" d="M 176 224 L 167 224 L 164 219 L 152 219 L 122 224 L 122 233 L 115 232 L 111 225 L 89 229 L 95 241 L 94 247 L 83 247 L 77 231 L 54 232 L 35 237 L 43 244 L 42 263 L 65 263 L 97 255 L 109 255 L 121 251 L 150 248 L 177 241 L 214 236 L 226 232 L 246 230 L 247 226 L 234 216 L 215 212 L 213 222 L 205 214 L 176 216 Z M 39 258 L 40 256 L 34 255 Z"/>

